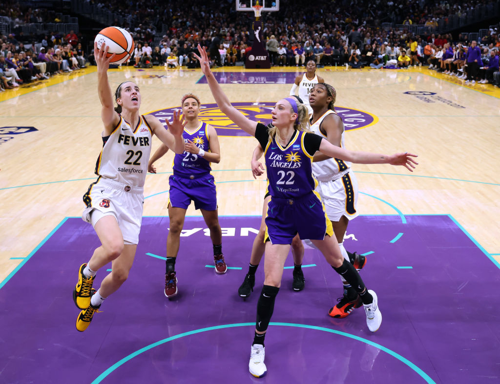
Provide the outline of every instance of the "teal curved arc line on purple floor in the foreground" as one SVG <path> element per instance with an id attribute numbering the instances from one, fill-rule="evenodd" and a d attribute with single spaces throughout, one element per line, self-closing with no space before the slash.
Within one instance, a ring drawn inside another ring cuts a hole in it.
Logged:
<path id="1" fill-rule="evenodd" d="M 435 384 L 435 382 L 425 372 L 423 372 L 420 368 L 418 368 L 416 365 L 411 363 L 408 359 L 402 357 L 398 353 L 396 353 L 396 352 L 394 352 L 386 347 L 381 346 L 380 344 L 374 343 L 374 342 L 369 341 L 367 339 L 363 339 L 363 338 L 360 338 L 360 337 L 355 336 L 355 335 L 351 335 L 351 334 L 341 332 L 341 331 L 332 330 L 329 328 L 310 326 L 310 325 L 306 325 L 306 324 L 269 323 L 269 326 L 271 326 L 271 327 L 296 327 L 296 328 L 305 328 L 305 329 L 316 330 L 316 331 L 323 331 L 323 332 L 328 332 L 331 334 L 343 336 L 343 337 L 346 337 L 349 339 L 353 339 L 353 340 L 359 341 L 361 343 L 368 344 L 372 347 L 378 348 L 380 351 L 385 352 L 386 354 L 394 357 L 395 359 L 399 360 L 401 363 L 408 366 L 415 373 L 417 373 L 426 383 Z M 131 353 L 130 355 L 124 357 L 120 361 L 114 363 L 111 367 L 109 367 L 107 370 L 105 370 L 103 373 L 101 373 L 91 384 L 98 384 L 98 383 L 102 382 L 102 380 L 105 379 L 109 374 L 111 374 L 117 368 L 121 367 L 123 364 L 132 360 L 134 357 L 136 357 L 144 352 L 147 352 L 147 351 L 149 351 L 157 346 L 168 343 L 172 340 L 180 339 L 180 338 L 183 338 L 185 336 L 195 335 L 195 334 L 202 333 L 202 332 L 227 329 L 227 328 L 234 328 L 234 327 L 255 327 L 255 323 L 225 324 L 225 325 L 219 325 L 219 326 L 215 326 L 215 327 L 206 327 L 206 328 L 201 328 L 201 329 L 197 329 L 197 330 L 193 330 L 193 331 L 189 331 L 189 332 L 184 332 L 184 333 L 174 335 L 174 336 L 171 336 L 169 338 L 160 340 L 156 343 L 149 344 L 148 346 L 141 348 L 140 350 L 137 350 L 137 351 Z"/>

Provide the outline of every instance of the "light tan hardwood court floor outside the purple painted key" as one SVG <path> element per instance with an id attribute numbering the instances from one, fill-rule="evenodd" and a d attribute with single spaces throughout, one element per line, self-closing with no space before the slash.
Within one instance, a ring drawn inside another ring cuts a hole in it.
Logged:
<path id="1" fill-rule="evenodd" d="M 251 105 L 273 103 L 288 95 L 289 76 L 281 75 L 296 69 L 303 73 L 300 68 L 272 68 L 241 77 L 245 72 L 241 67 L 216 72 L 226 79 L 222 88 L 232 102 Z M 413 173 L 390 165 L 354 165 L 362 193 L 358 211 L 449 214 L 498 267 L 500 91 L 491 85 L 465 87 L 456 78 L 426 68 L 345 71 L 329 67 L 317 72 L 336 88 L 335 105 L 372 117 L 371 125 L 346 133 L 348 149 L 419 155 L 420 164 Z M 266 82 L 266 76 L 272 82 Z M 201 77 L 199 69 L 109 71 L 113 90 L 127 78 L 139 85 L 142 113 L 176 107 L 187 92 L 213 104 L 208 86 L 198 82 Z M 95 179 L 93 169 L 102 146 L 95 67 L 2 92 L 0 111 L 0 127 L 37 129 L 17 134 L 0 129 L 1 287 L 65 217 L 81 214 L 81 197 Z M 227 124 L 216 112 L 206 116 Z M 262 121 L 269 118 L 263 112 L 257 116 Z M 153 150 L 157 143 L 155 139 Z M 220 215 L 261 214 L 265 179 L 254 181 L 249 166 L 256 144 L 250 137 L 220 137 L 221 161 L 213 165 Z M 159 173 L 146 177 L 145 216 L 167 216 L 171 161 L 168 153 L 157 162 Z M 199 213 L 190 207 L 188 215 Z M 491 268 L 496 268 L 493 263 Z"/>

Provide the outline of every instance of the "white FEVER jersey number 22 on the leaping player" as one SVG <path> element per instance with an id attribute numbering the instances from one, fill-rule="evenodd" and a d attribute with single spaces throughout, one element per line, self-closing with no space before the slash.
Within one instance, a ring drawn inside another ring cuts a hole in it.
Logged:
<path id="1" fill-rule="evenodd" d="M 151 152 L 151 127 L 143 115 L 132 128 L 120 115 L 111 134 L 103 137 L 104 145 L 95 164 L 95 174 L 120 183 L 142 187 Z"/>

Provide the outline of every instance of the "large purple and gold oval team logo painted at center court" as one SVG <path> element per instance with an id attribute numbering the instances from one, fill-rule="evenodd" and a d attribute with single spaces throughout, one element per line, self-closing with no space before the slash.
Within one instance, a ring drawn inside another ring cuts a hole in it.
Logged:
<path id="1" fill-rule="evenodd" d="M 249 119 L 259 121 L 262 124 L 268 124 L 271 121 L 271 111 L 275 103 L 240 102 L 231 104 Z M 158 109 L 148 114 L 156 116 L 166 127 L 165 118 L 170 121 L 174 111 L 182 111 L 182 108 L 178 106 Z M 336 106 L 335 112 L 342 118 L 345 130 L 366 128 L 378 121 L 378 117 L 375 115 L 359 109 Z M 227 116 L 222 113 L 217 104 L 201 104 L 198 118 L 214 127 L 219 136 L 249 136 L 245 131 L 238 128 L 229 120 Z"/>

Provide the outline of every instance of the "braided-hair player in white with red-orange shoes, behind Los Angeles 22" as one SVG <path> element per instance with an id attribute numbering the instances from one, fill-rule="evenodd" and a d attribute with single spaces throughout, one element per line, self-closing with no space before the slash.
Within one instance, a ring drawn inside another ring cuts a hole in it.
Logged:
<path id="1" fill-rule="evenodd" d="M 313 110 L 310 119 L 310 130 L 337 147 L 345 148 L 344 125 L 342 119 L 334 111 L 336 98 L 335 89 L 325 83 L 318 83 L 312 87 L 309 94 L 309 104 Z M 328 219 L 331 221 L 333 233 L 337 239 L 340 252 L 344 259 L 359 271 L 365 264 L 366 258 L 355 252 L 348 253 L 343 246 L 343 237 L 349 220 L 357 217 L 357 180 L 350 169 L 348 161 L 329 158 L 323 154 L 314 155 L 312 173 L 317 180 L 315 191 L 321 196 Z M 306 241 L 306 243 L 308 243 Z M 344 318 L 354 308 L 359 308 L 362 302 L 354 288 L 340 276 L 344 293 L 338 299 L 336 306 L 328 311 L 334 318 Z"/>

